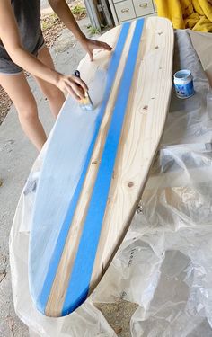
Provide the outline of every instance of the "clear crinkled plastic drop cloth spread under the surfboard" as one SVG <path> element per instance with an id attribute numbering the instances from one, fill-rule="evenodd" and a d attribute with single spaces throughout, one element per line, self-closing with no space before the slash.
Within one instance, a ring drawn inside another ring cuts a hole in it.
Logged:
<path id="1" fill-rule="evenodd" d="M 29 224 L 46 147 L 31 170 L 10 237 L 15 311 L 31 336 L 116 336 L 93 303 L 120 299 L 137 303 L 133 337 L 212 336 L 212 96 L 189 34 L 175 37 L 174 71 L 191 70 L 195 96 L 181 101 L 172 94 L 161 149 L 128 234 L 93 295 L 64 318 L 41 315 L 29 294 Z"/>

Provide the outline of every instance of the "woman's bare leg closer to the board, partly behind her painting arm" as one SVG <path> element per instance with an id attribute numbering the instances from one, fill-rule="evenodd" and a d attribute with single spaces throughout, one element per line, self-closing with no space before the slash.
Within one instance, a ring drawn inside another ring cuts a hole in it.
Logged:
<path id="1" fill-rule="evenodd" d="M 46 46 L 40 50 L 37 58 L 40 59 L 40 61 L 47 67 L 54 69 L 52 58 Z M 45 97 L 47 97 L 51 112 L 53 113 L 55 118 L 57 118 L 61 106 L 65 102 L 64 93 L 62 93 L 57 88 L 57 86 L 49 84 L 48 82 L 41 80 L 38 77 L 34 76 L 34 78 L 36 82 L 39 84 L 41 92 L 44 94 Z"/>

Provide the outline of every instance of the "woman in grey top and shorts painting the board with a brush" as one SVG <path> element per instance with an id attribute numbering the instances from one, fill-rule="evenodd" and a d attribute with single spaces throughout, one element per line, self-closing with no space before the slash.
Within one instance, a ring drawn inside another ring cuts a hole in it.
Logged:
<path id="1" fill-rule="evenodd" d="M 49 4 L 81 43 L 91 61 L 93 49 L 111 50 L 108 44 L 85 37 L 66 0 L 49 0 Z M 75 75 L 63 75 L 55 70 L 40 28 L 40 0 L 1 0 L 0 85 L 12 99 L 23 131 L 40 151 L 47 136 L 22 69 L 33 75 L 55 118 L 65 101 L 64 93 L 79 100 L 88 89 Z"/>

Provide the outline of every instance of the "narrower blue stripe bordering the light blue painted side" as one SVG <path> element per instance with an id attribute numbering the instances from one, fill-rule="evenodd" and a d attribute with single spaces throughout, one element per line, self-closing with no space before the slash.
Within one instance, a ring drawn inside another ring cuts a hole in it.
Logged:
<path id="1" fill-rule="evenodd" d="M 37 302 L 36 304 L 37 304 L 40 312 L 42 312 L 43 314 L 45 314 L 45 308 L 46 308 L 46 305 L 47 305 L 47 302 L 48 302 L 48 299 L 49 299 L 51 287 L 52 287 L 52 284 L 53 284 L 54 279 L 56 277 L 57 267 L 58 267 L 58 264 L 59 264 L 61 256 L 62 256 L 64 246 L 66 244 L 66 237 L 67 237 L 68 231 L 70 229 L 72 219 L 73 219 L 74 214 L 75 214 L 75 208 L 76 208 L 77 202 L 79 200 L 80 193 L 81 193 L 82 188 L 83 188 L 84 178 L 85 178 L 85 175 L 87 173 L 87 169 L 88 169 L 88 166 L 89 166 L 89 163 L 90 163 L 90 160 L 91 160 L 91 155 L 93 154 L 93 147 L 95 145 L 95 141 L 96 141 L 96 138 L 98 136 L 100 125 L 102 123 L 102 117 L 104 115 L 104 112 L 105 112 L 105 109 L 106 109 L 106 106 L 107 106 L 107 102 L 108 102 L 109 97 L 110 97 L 110 90 L 111 90 L 112 84 L 114 82 L 117 69 L 119 67 L 119 60 L 121 58 L 122 51 L 123 51 L 124 45 L 125 45 L 125 41 L 126 41 L 126 38 L 128 36 L 129 27 L 130 27 L 129 22 L 125 23 L 122 26 L 121 31 L 119 33 L 119 40 L 118 40 L 116 48 L 115 48 L 115 50 L 114 50 L 114 52 L 111 56 L 110 67 L 109 67 L 109 70 L 108 70 L 107 84 L 106 84 L 106 89 L 105 89 L 105 93 L 104 93 L 104 98 L 103 98 L 103 101 L 102 101 L 102 107 L 101 107 L 101 111 L 99 113 L 99 116 L 96 120 L 96 125 L 95 125 L 95 129 L 94 129 L 94 132 L 93 132 L 93 139 L 92 139 L 91 145 L 89 146 L 89 149 L 88 149 L 85 161 L 84 161 L 83 172 L 82 172 L 80 180 L 77 184 L 73 199 L 71 200 L 69 208 L 67 210 L 66 220 L 64 221 L 64 223 L 61 227 L 60 234 L 59 234 L 58 239 L 57 239 L 56 248 L 55 248 L 55 251 L 52 255 L 52 259 L 49 263 L 49 270 L 47 271 L 47 275 L 46 275 L 42 290 L 40 292 L 40 296 L 37 298 L 37 301 L 36 301 Z"/>

